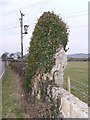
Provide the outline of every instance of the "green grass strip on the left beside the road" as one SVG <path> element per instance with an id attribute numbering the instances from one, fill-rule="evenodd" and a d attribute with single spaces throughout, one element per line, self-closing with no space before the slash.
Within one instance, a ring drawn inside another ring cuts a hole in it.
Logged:
<path id="1" fill-rule="evenodd" d="M 16 74 L 7 66 L 2 79 L 2 117 L 22 118 L 22 113 L 23 109 L 17 91 Z"/>

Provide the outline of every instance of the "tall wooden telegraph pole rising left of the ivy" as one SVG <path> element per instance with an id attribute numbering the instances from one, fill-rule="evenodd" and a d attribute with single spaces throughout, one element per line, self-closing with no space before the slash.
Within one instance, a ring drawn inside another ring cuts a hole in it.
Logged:
<path id="1" fill-rule="evenodd" d="M 23 62 L 23 16 L 24 14 L 20 11 L 20 27 L 21 27 L 21 61 Z"/>

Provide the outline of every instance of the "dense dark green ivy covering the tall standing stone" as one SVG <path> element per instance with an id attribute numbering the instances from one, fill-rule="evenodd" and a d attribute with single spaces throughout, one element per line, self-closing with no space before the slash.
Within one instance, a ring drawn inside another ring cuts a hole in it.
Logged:
<path id="1" fill-rule="evenodd" d="M 68 35 L 66 23 L 54 12 L 44 12 L 38 19 L 29 47 L 25 81 L 28 90 L 31 89 L 30 81 L 37 71 L 47 73 L 52 69 L 55 64 L 53 55 L 60 45 L 65 50 Z"/>

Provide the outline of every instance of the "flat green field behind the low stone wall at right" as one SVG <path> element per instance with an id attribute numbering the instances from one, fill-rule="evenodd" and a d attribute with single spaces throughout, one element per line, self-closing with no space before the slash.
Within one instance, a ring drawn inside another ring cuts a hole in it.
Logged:
<path id="1" fill-rule="evenodd" d="M 64 73 L 64 88 L 67 77 L 71 81 L 71 93 L 88 103 L 88 62 L 68 62 Z"/>

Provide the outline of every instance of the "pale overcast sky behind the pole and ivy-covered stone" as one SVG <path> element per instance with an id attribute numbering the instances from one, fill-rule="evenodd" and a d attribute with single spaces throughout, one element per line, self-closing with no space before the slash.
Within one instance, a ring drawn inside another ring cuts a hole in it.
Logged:
<path id="1" fill-rule="evenodd" d="M 70 30 L 67 54 L 88 53 L 88 0 L 0 0 L 0 55 L 20 52 L 20 11 L 29 25 L 23 37 L 24 54 L 37 19 L 45 11 L 60 15 Z"/>

